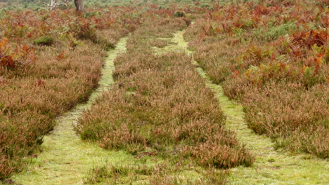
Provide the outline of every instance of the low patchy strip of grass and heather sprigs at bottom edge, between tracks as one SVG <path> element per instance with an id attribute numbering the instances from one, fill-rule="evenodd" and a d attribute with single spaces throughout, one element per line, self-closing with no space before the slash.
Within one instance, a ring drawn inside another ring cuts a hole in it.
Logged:
<path id="1" fill-rule="evenodd" d="M 226 184 L 226 174 L 216 170 L 203 172 L 196 181 L 183 177 L 182 165 L 169 165 L 169 162 L 155 165 L 120 165 L 106 163 L 93 167 L 89 176 L 84 179 L 85 184 Z M 174 175 L 172 175 L 174 174 Z"/>

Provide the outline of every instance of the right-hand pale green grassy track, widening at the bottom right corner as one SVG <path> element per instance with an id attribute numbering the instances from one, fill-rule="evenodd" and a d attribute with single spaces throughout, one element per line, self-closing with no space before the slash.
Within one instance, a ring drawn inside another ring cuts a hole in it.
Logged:
<path id="1" fill-rule="evenodd" d="M 183 39 L 183 33 L 184 31 L 177 32 L 170 40 L 176 45 L 162 48 L 162 52 L 183 50 L 193 56 L 193 52 L 188 50 L 188 42 Z M 238 141 L 246 144 L 246 148 L 256 157 L 252 167 L 236 167 L 231 170 L 230 184 L 329 184 L 328 160 L 307 154 L 293 155 L 275 151 L 268 137 L 256 135 L 247 128 L 243 107 L 233 100 L 228 100 L 221 85 L 212 83 L 205 71 L 198 67 L 198 62 L 193 60 L 193 64 L 219 99 L 221 109 L 227 116 L 226 128 L 235 131 Z"/>

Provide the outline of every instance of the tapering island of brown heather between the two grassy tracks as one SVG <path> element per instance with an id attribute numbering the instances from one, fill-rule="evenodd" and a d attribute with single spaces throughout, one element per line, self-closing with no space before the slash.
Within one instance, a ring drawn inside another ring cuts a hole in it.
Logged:
<path id="1" fill-rule="evenodd" d="M 84 114 L 77 131 L 105 149 L 185 157 L 205 167 L 249 166 L 254 158 L 238 144 L 234 132 L 224 130 L 219 102 L 193 68 L 191 57 L 153 54 L 153 39 L 184 28 L 180 18 L 153 18 L 136 29 L 127 53 L 115 60 L 115 87 Z"/>

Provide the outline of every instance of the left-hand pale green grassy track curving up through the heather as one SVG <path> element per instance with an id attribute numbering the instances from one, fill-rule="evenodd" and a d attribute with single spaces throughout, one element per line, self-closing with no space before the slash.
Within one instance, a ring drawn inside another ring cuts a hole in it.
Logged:
<path id="1" fill-rule="evenodd" d="M 86 109 L 89 109 L 96 98 L 113 83 L 113 60 L 126 50 L 127 37 L 110 50 L 105 60 L 99 87 L 91 94 L 89 101 L 78 104 L 74 109 L 56 120 L 56 128 L 44 137 L 41 145 L 43 151 L 33 163 L 20 174 L 11 179 L 18 184 L 82 184 L 91 167 L 111 161 L 129 161 L 130 155 L 124 152 L 106 151 L 96 144 L 82 142 L 75 133 L 74 124 Z"/>

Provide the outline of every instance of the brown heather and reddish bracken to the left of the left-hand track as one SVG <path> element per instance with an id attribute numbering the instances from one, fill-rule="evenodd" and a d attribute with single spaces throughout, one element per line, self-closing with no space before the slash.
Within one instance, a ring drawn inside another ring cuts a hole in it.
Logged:
<path id="1" fill-rule="evenodd" d="M 103 48 L 139 25 L 133 8 L 109 9 L 91 18 L 62 10 L 1 14 L 0 180 L 25 166 L 22 158 L 37 152 L 56 116 L 88 98 Z"/>

